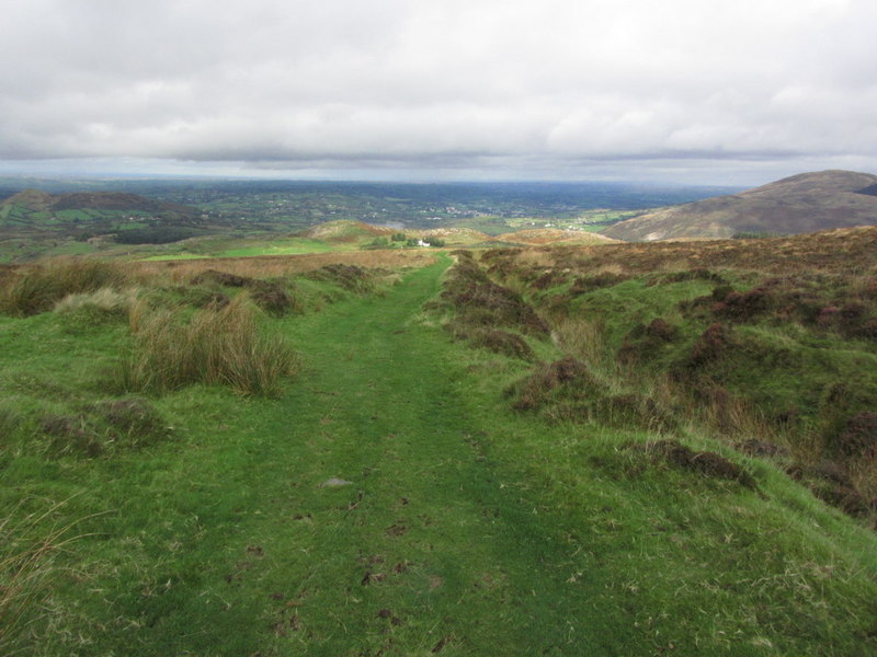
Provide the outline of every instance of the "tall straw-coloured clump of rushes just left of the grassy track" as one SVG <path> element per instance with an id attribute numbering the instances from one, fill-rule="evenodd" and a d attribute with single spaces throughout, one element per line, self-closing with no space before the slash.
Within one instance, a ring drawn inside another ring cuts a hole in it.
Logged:
<path id="1" fill-rule="evenodd" d="M 230 385 L 243 394 L 273 396 L 296 369 L 289 345 L 260 333 L 246 295 L 207 307 L 189 319 L 180 310 L 132 309 L 134 346 L 122 360 L 125 391 L 167 392 L 192 383 Z"/>

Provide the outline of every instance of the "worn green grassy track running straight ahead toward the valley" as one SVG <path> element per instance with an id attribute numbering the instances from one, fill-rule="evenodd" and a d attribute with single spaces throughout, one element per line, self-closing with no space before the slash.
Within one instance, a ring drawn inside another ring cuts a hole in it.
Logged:
<path id="1" fill-rule="evenodd" d="M 281 653 L 595 646 L 568 607 L 568 555 L 479 452 L 490 427 L 468 414 L 444 339 L 414 321 L 441 268 L 297 323 L 307 382 L 293 416 L 261 429 L 280 443 L 261 497 L 287 520 L 259 542 L 283 596 L 269 641 Z M 332 477 L 351 483 L 320 486 Z"/>

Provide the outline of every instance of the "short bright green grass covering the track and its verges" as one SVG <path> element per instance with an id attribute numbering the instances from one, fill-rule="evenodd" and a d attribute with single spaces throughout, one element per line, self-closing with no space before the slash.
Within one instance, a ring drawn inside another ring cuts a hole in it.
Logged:
<path id="1" fill-rule="evenodd" d="M 423 303 L 447 262 L 383 295 L 272 320 L 300 354 L 278 399 L 149 397 L 169 437 L 0 456 L 3 502 L 70 499 L 82 538 L 14 647 L 34 655 L 863 655 L 877 540 L 772 465 L 708 479 L 547 425 L 502 391 L 532 366 L 449 341 Z M 125 327 L 0 319 L 0 389 L 72 412 L 105 395 Z M 551 355 L 549 345 L 539 353 Z M 107 362 L 107 359 L 110 362 Z M 30 406 L 29 406 L 30 404 Z M 350 482 L 324 485 L 332 479 Z M 9 505 L 5 508 L 12 508 Z M 101 514 L 94 516 L 94 514 Z"/>

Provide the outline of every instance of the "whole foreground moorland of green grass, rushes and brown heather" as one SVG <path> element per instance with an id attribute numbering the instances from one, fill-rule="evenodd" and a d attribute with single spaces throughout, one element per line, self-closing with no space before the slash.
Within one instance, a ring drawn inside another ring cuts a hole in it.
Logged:
<path id="1" fill-rule="evenodd" d="M 877 228 L 214 228 L 0 272 L 4 653 L 877 652 Z"/>

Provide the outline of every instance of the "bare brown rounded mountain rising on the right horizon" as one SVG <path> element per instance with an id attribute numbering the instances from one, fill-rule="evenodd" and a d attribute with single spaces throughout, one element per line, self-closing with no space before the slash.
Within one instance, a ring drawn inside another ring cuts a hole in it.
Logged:
<path id="1" fill-rule="evenodd" d="M 852 171 L 802 173 L 775 183 L 622 221 L 603 234 L 631 242 L 798 234 L 877 224 L 877 176 Z"/>

